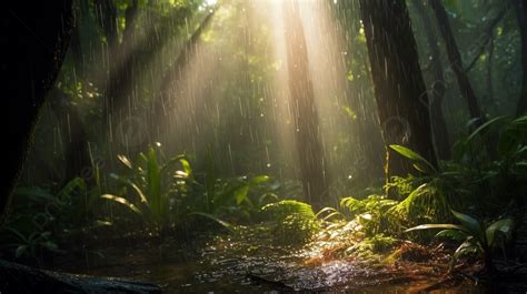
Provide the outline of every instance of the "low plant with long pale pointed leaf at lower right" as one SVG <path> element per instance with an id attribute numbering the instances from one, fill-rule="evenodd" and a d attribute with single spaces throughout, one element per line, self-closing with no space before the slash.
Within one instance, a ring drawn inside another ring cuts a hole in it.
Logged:
<path id="1" fill-rule="evenodd" d="M 418 230 L 441 229 L 436 234 L 438 237 L 449 237 L 461 242 L 453 254 L 450 268 L 454 268 L 457 260 L 463 255 L 479 254 L 484 261 L 484 266 L 490 272 L 496 270 L 491 252 L 496 247 L 504 249 L 507 241 L 510 240 L 513 232 L 513 219 L 501 219 L 488 225 L 476 220 L 473 216 L 451 211 L 460 224 L 421 224 L 410 227 L 405 232 Z"/>

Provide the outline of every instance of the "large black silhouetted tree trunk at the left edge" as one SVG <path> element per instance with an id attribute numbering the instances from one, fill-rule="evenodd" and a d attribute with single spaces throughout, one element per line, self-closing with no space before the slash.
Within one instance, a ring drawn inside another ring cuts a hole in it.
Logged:
<path id="1" fill-rule="evenodd" d="M 8 99 L 10 142 L 7 168 L 0 191 L 0 222 L 31 143 L 30 135 L 46 94 L 52 88 L 62 64 L 73 18 L 72 1 L 37 1 L 13 4 L 2 10 L 4 48 L 2 77 L 10 77 L 3 94 Z"/>

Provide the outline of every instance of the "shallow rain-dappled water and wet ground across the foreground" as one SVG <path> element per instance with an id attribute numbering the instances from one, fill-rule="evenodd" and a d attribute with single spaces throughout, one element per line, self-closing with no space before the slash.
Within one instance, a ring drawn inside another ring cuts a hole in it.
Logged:
<path id="1" fill-rule="evenodd" d="M 165 293 L 527 293 L 525 282 L 450 276 L 444 264 L 434 261 L 388 266 L 350 258 L 309 262 L 306 247 L 274 245 L 255 234 L 200 236 L 191 242 L 169 237 L 160 245 L 111 243 L 83 251 L 76 261 L 66 257 L 53 267 L 151 282 Z"/>

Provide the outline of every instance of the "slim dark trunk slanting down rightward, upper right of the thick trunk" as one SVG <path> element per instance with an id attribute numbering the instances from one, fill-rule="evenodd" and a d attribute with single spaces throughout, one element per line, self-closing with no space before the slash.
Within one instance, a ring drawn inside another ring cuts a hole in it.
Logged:
<path id="1" fill-rule="evenodd" d="M 456 38 L 450 28 L 450 21 L 448 20 L 447 11 L 441 4 L 440 0 L 429 0 L 429 3 L 436 14 L 436 19 L 441 32 L 443 39 L 445 40 L 445 45 L 447 49 L 448 60 L 450 61 L 450 67 L 454 73 L 457 77 L 457 82 L 459 84 L 459 90 L 461 91 L 463 97 L 467 100 L 468 111 L 471 119 L 477 119 L 476 125 L 481 125 L 485 122 L 485 116 L 481 109 L 479 108 L 478 99 L 474 92 L 473 85 L 464 70 L 461 54 L 456 43 Z"/>

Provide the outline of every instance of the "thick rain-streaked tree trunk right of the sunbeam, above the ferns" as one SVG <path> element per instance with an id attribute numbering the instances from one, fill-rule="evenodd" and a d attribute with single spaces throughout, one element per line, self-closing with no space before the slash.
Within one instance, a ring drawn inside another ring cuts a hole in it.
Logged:
<path id="1" fill-rule="evenodd" d="M 428 95 L 406 3 L 360 0 L 360 11 L 385 144 L 406 145 L 437 166 Z M 387 148 L 387 180 L 410 171 L 408 160 Z"/>

